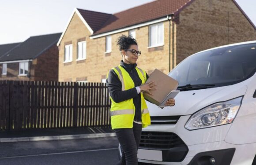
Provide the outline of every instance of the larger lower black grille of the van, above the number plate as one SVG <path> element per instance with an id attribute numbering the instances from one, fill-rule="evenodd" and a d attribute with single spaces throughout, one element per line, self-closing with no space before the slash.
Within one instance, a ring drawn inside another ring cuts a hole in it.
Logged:
<path id="1" fill-rule="evenodd" d="M 179 136 L 172 132 L 145 132 L 141 133 L 140 148 L 169 149 L 186 146 Z"/>

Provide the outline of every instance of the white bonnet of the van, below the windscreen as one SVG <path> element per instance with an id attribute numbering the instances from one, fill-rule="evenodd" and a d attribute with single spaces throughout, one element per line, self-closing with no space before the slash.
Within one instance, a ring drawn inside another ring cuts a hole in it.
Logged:
<path id="1" fill-rule="evenodd" d="M 234 88 L 237 90 L 233 90 Z M 226 87 L 182 91 L 175 97 L 175 106 L 161 109 L 149 102 L 147 102 L 147 106 L 151 116 L 191 115 L 213 103 L 245 95 L 246 89 L 246 86 L 239 83 Z"/>

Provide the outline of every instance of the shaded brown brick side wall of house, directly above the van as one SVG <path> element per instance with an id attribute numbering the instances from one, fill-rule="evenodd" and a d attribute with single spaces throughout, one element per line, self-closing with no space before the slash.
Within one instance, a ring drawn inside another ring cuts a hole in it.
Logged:
<path id="1" fill-rule="evenodd" d="M 232 0 L 195 0 L 180 13 L 177 64 L 198 51 L 256 40 L 256 30 Z"/>

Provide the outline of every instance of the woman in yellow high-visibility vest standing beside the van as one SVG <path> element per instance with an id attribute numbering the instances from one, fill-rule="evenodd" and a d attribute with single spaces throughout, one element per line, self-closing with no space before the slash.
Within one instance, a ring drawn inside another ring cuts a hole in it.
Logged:
<path id="1" fill-rule="evenodd" d="M 136 40 L 122 35 L 118 38 L 117 45 L 123 60 L 119 66 L 109 71 L 106 80 L 112 101 L 111 126 L 122 148 L 122 158 L 117 165 L 137 165 L 141 130 L 150 125 L 150 115 L 142 92 L 152 94 L 150 91 L 156 89 L 156 84 L 144 84 L 148 75 L 136 67 L 141 54 Z M 166 102 L 166 106 L 174 104 L 174 99 Z"/>

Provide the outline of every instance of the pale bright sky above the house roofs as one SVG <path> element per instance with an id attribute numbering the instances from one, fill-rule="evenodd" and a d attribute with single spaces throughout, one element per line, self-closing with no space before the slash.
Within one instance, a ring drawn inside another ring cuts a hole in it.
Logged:
<path id="1" fill-rule="evenodd" d="M 0 44 L 61 33 L 75 7 L 117 13 L 154 0 L 0 0 Z M 256 0 L 236 0 L 256 25 Z"/>

